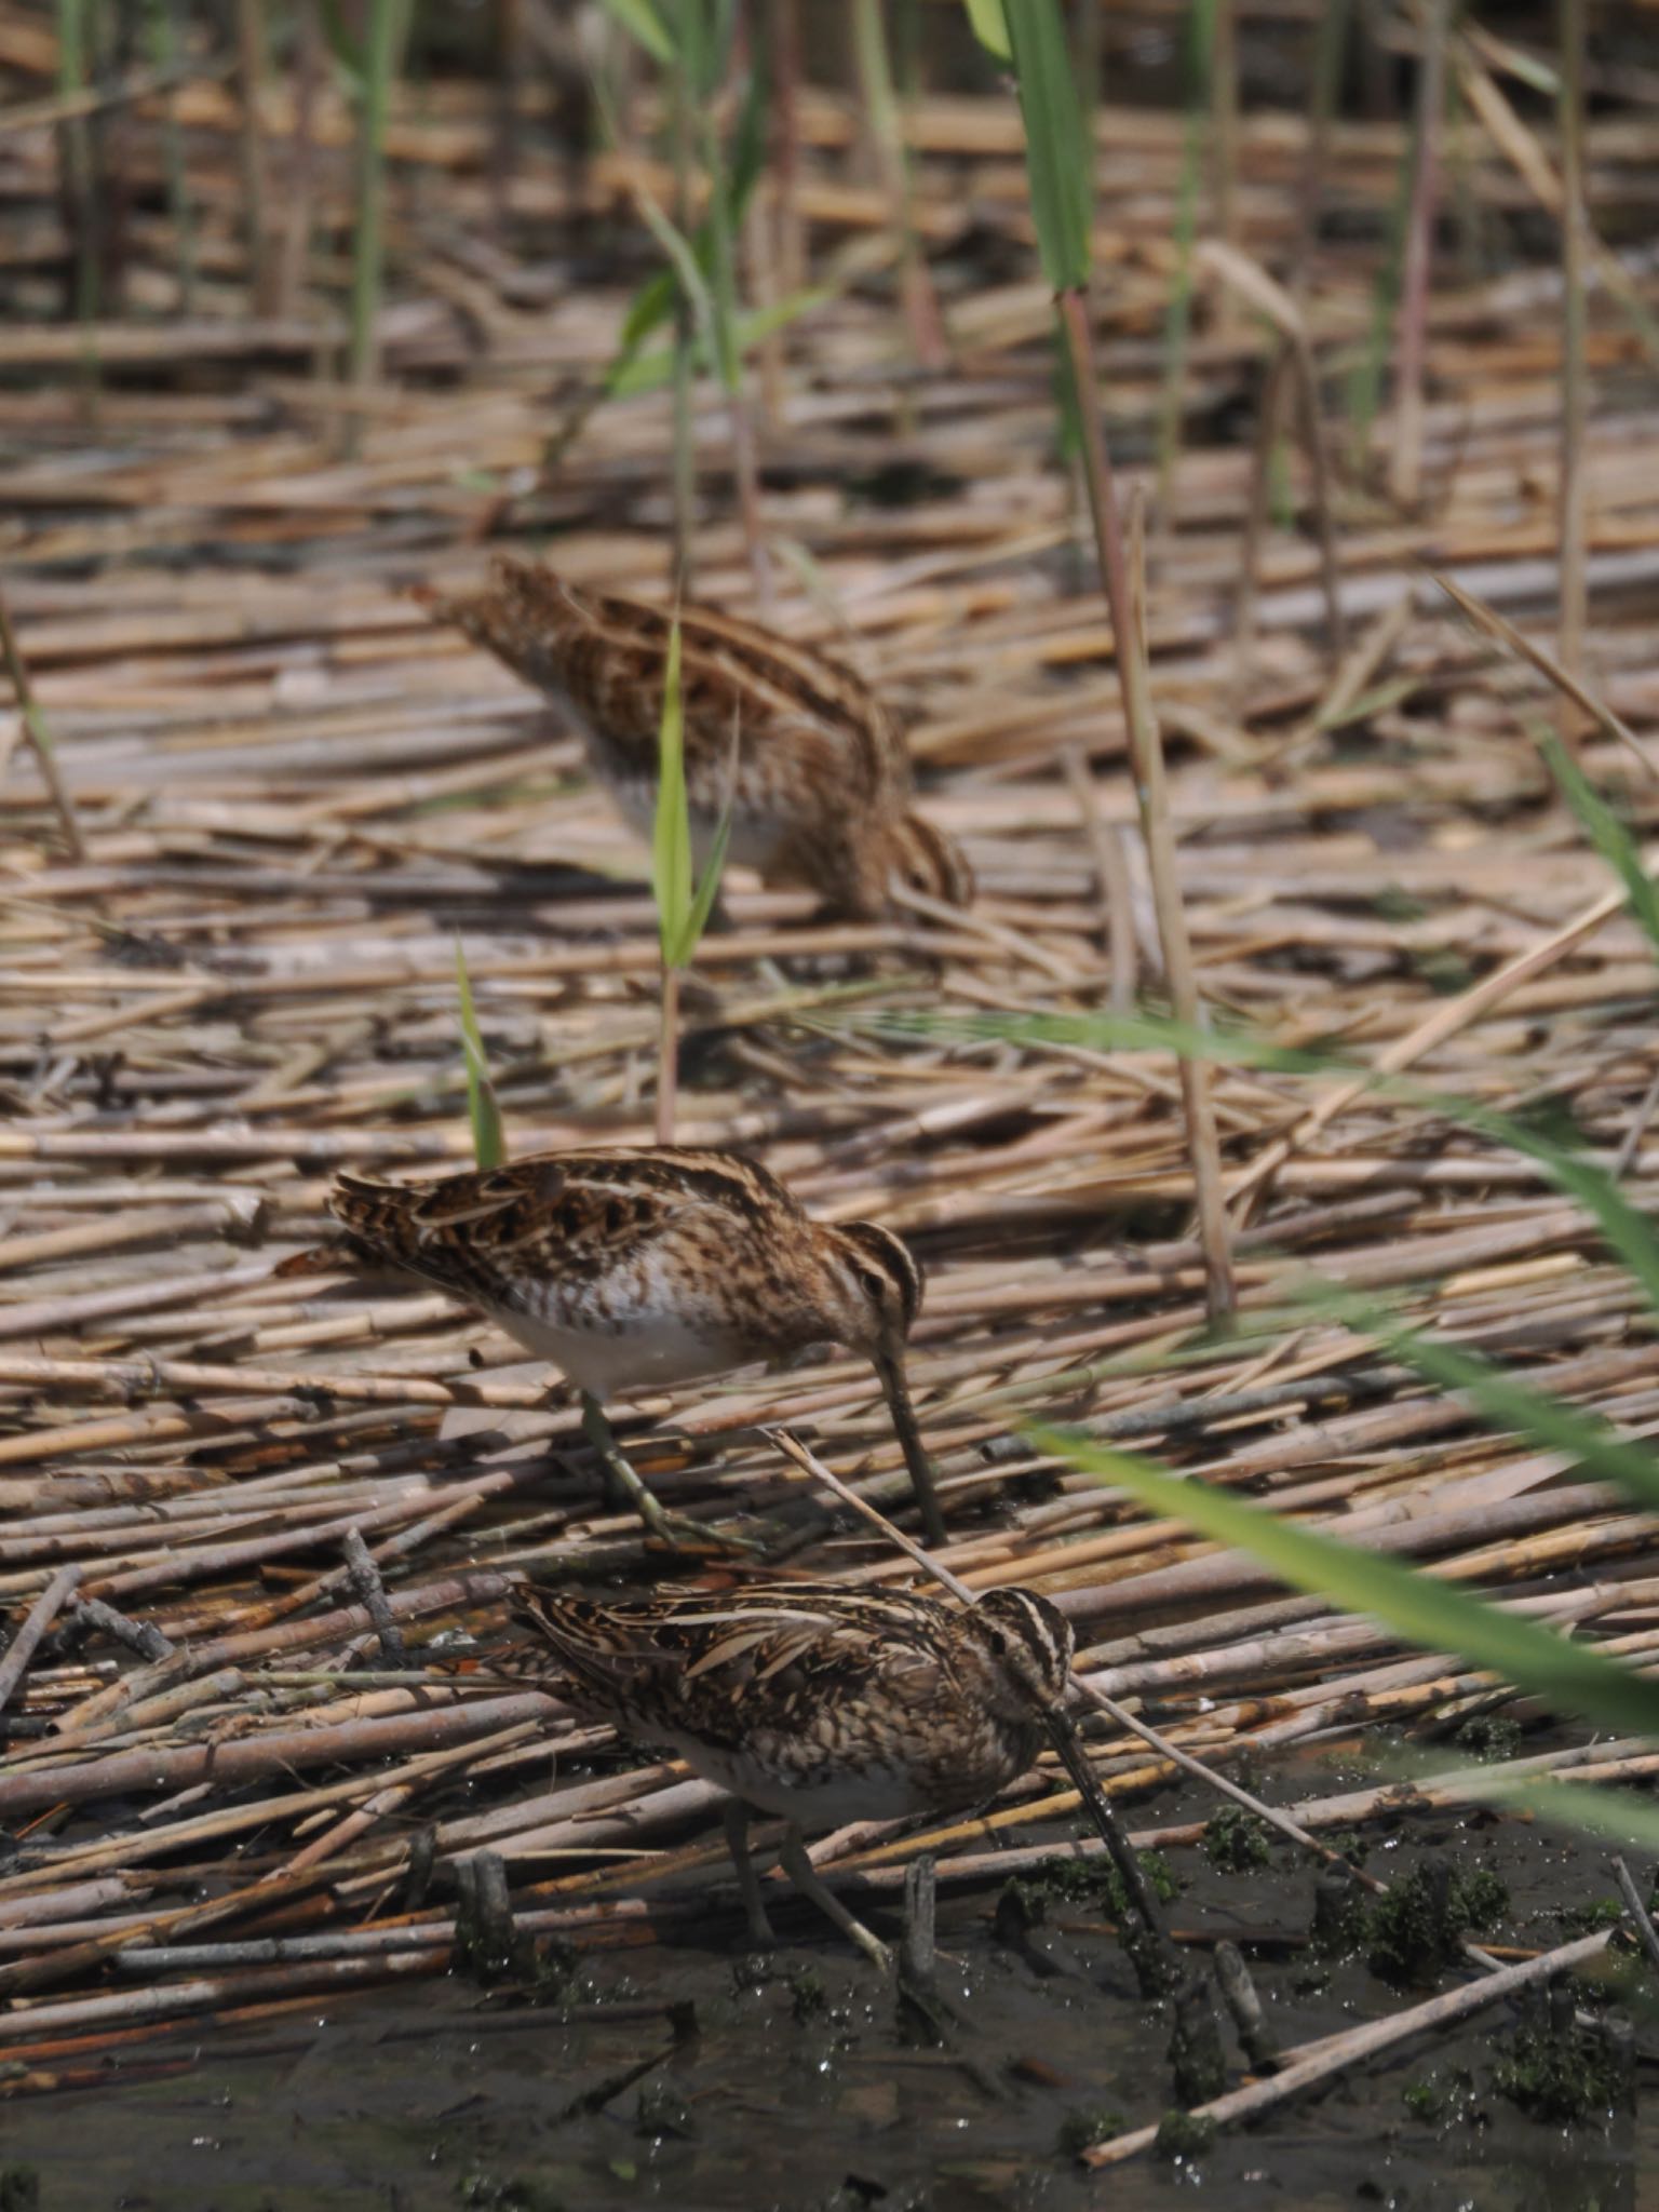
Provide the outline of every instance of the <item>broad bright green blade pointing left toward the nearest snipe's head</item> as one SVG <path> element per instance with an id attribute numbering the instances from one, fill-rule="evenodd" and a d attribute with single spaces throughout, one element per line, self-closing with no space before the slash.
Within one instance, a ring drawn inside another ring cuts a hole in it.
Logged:
<path id="1" fill-rule="evenodd" d="M 1217 1544 L 1248 1551 L 1292 1588 L 1325 1597 L 1347 1613 L 1369 1615 L 1425 1650 L 1458 1652 L 1555 1712 L 1628 1734 L 1659 1728 L 1659 1686 L 1588 1644 L 1568 1641 L 1553 1628 L 1504 1613 L 1398 1559 L 1241 1504 L 1203 1482 L 1177 1482 L 1146 1460 L 1071 1429 L 1024 1433 L 1037 1451 L 1071 1460 L 1099 1482 L 1119 1484 L 1150 1513 L 1183 1520 Z"/>

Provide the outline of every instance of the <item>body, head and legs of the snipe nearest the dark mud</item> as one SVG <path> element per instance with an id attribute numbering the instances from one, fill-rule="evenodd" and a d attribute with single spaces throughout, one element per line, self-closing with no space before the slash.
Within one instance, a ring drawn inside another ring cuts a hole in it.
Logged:
<path id="1" fill-rule="evenodd" d="M 752 1812 L 787 1820 L 790 1880 L 889 1966 L 818 1880 L 805 1829 L 982 1805 L 1031 1767 L 1044 1734 L 1073 1776 L 1084 1765 L 1064 1717 L 1071 1621 L 1033 1590 L 987 1590 L 964 1608 L 821 1582 L 622 1604 L 524 1590 L 513 1610 L 573 1703 L 730 1792 L 726 1838 L 761 1944 L 772 1929 L 748 1856 Z"/>

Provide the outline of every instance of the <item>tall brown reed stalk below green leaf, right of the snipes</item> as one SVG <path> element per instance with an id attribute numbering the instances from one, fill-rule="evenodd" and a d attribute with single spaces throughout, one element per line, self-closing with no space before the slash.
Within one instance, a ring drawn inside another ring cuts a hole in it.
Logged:
<path id="1" fill-rule="evenodd" d="M 1128 728 L 1130 761 L 1135 765 L 1135 803 L 1146 838 L 1146 858 L 1152 874 L 1152 907 L 1157 911 L 1157 933 L 1164 953 L 1164 975 L 1177 1020 L 1201 1022 L 1203 1009 L 1192 971 L 1192 947 L 1186 933 L 1186 909 L 1181 907 L 1181 880 L 1175 863 L 1175 832 L 1170 827 L 1170 803 L 1164 785 L 1164 741 L 1152 714 L 1152 697 L 1146 677 L 1146 653 L 1141 648 L 1141 626 L 1135 615 L 1141 580 L 1130 582 L 1124 560 L 1124 533 L 1117 520 L 1117 495 L 1113 489 L 1113 467 L 1106 456 L 1106 434 L 1099 422 L 1099 380 L 1095 374 L 1095 347 L 1088 332 L 1088 307 L 1075 288 L 1055 301 L 1060 330 L 1071 363 L 1071 380 L 1077 392 L 1077 418 L 1084 442 L 1084 482 L 1088 484 L 1088 511 L 1095 522 L 1095 551 L 1099 555 L 1106 606 L 1113 622 L 1113 657 L 1117 661 L 1117 684 L 1124 699 L 1124 723 Z M 1203 1245 L 1206 1298 L 1210 1318 L 1221 1321 L 1239 1298 L 1232 1285 L 1232 1254 L 1228 1241 L 1225 1194 L 1221 1183 L 1221 1148 L 1217 1144 L 1214 1113 L 1210 1110 L 1210 1071 L 1197 1060 L 1181 1060 L 1181 1104 L 1186 1108 L 1188 1148 L 1192 1155 L 1192 1183 L 1199 1212 L 1199 1241 Z"/>

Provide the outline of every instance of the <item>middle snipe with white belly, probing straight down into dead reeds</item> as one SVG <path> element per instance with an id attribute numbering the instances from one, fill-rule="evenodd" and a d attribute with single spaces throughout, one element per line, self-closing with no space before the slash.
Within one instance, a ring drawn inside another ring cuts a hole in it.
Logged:
<path id="1" fill-rule="evenodd" d="M 765 1168 L 677 1146 L 538 1152 L 434 1183 L 341 1175 L 327 1203 L 352 1252 L 482 1307 L 551 1360 L 611 1480 L 659 1535 L 672 1535 L 668 1515 L 604 1400 L 834 1340 L 876 1367 L 922 1528 L 945 1540 L 905 1383 L 922 1272 L 891 1230 L 814 1221 Z"/>

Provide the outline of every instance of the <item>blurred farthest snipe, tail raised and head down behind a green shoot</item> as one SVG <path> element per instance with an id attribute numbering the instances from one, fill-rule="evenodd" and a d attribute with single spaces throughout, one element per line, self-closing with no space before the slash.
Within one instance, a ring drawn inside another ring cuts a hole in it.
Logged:
<path id="1" fill-rule="evenodd" d="M 418 597 L 580 723 L 593 772 L 650 836 L 675 611 L 515 560 L 495 560 L 471 597 Z M 967 860 L 911 810 L 902 732 L 849 668 L 737 615 L 681 606 L 679 686 L 699 867 L 730 799 L 730 858 L 810 885 L 838 914 L 883 914 L 894 878 L 969 905 Z"/>

